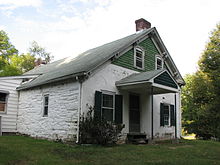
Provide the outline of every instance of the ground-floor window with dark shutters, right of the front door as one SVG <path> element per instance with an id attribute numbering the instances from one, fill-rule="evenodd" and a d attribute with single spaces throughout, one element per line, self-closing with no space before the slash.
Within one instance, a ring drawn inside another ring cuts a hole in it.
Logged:
<path id="1" fill-rule="evenodd" d="M 175 126 L 174 105 L 160 104 L 160 126 Z"/>

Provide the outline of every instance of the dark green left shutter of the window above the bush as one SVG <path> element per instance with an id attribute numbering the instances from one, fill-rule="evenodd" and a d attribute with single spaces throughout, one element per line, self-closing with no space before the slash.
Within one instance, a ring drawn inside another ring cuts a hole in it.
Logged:
<path id="1" fill-rule="evenodd" d="M 101 119 L 101 110 L 102 110 L 102 92 L 95 91 L 94 117 L 96 119 Z"/>

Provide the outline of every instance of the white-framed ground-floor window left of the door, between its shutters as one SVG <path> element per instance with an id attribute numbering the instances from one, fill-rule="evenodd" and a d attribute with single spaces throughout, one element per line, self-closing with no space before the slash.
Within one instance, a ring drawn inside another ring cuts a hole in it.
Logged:
<path id="1" fill-rule="evenodd" d="M 102 118 L 114 121 L 114 94 L 102 94 Z"/>

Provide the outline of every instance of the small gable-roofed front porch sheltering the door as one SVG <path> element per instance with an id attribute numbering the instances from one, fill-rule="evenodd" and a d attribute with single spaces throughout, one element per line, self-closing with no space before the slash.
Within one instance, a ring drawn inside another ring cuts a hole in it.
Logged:
<path id="1" fill-rule="evenodd" d="M 123 95 L 124 133 L 128 138 L 178 137 L 179 86 L 167 70 L 132 74 L 116 86 Z"/>

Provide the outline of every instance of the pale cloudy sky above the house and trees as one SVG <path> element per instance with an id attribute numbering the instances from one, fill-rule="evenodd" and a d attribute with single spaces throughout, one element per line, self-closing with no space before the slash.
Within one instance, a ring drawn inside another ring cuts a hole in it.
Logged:
<path id="1" fill-rule="evenodd" d="M 184 76 L 220 23 L 220 0 L 0 0 L 0 30 L 19 53 L 37 41 L 54 60 L 133 34 L 139 18 L 157 28 Z"/>

